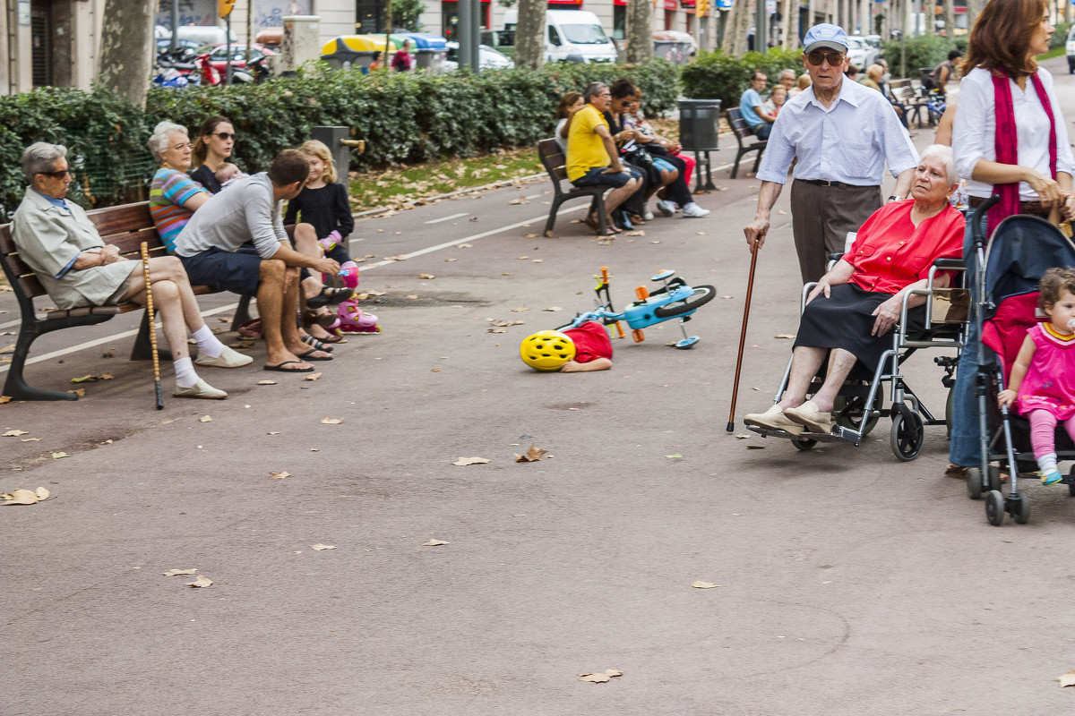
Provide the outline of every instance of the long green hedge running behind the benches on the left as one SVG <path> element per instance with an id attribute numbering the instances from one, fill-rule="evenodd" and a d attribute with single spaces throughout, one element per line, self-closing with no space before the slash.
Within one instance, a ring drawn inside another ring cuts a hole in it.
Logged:
<path id="1" fill-rule="evenodd" d="M 198 131 L 221 114 L 235 125 L 234 159 L 244 170 L 266 169 L 281 149 L 310 137 L 310 128 L 350 127 L 367 140 L 352 170 L 470 157 L 497 148 L 533 145 L 550 135 L 560 97 L 590 82 L 629 77 L 644 92 L 653 116 L 675 107 L 679 70 L 664 60 L 639 65 L 557 63 L 529 70 L 450 74 L 331 71 L 315 63 L 299 77 L 260 85 L 155 88 L 146 109 L 101 90 L 44 88 L 0 98 L 0 215 L 13 211 L 25 187 L 19 155 L 32 142 L 67 145 L 75 180 L 71 198 L 108 206 L 143 195 L 154 170 L 146 149 L 158 121 Z M 2 219 L 2 216 L 0 216 Z"/>

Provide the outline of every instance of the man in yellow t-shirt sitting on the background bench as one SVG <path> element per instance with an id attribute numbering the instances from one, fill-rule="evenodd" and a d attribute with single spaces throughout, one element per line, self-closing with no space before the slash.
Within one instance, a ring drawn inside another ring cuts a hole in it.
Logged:
<path id="1" fill-rule="evenodd" d="M 619 161 L 617 140 L 633 137 L 633 130 L 625 130 L 622 136 L 613 138 L 603 113 L 612 103 L 608 86 L 591 83 L 583 93 L 586 106 L 572 115 L 568 129 L 568 179 L 576 187 L 610 187 L 605 196 L 605 234 L 620 233 L 612 220 L 612 213 L 642 186 L 642 177 L 636 171 Z M 628 136 L 628 135 L 631 136 Z M 596 213 L 586 217 L 587 225 L 601 233 Z"/>

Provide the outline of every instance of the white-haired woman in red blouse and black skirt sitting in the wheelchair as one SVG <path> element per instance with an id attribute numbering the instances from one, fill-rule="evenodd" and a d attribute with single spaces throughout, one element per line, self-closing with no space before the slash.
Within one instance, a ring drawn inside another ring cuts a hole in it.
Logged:
<path id="1" fill-rule="evenodd" d="M 963 215 L 948 203 L 959 187 L 951 148 L 933 145 L 915 171 L 912 199 L 877 209 L 858 232 L 850 250 L 821 277 L 806 297 L 799 322 L 791 377 L 783 399 L 744 423 L 793 435 L 832 429 L 832 403 L 856 362 L 870 370 L 891 346 L 886 334 L 900 319 L 904 294 L 924 288 L 936 259 L 963 253 Z M 946 286 L 937 275 L 934 287 Z M 911 308 L 926 302 L 912 295 Z M 825 384 L 806 400 L 818 369 L 829 361 Z"/>

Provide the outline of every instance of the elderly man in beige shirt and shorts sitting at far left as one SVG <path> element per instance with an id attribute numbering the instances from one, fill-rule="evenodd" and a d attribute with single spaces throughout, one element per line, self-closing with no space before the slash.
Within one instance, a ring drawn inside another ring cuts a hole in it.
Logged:
<path id="1" fill-rule="evenodd" d="M 105 245 L 81 206 L 69 202 L 67 147 L 35 142 L 23 152 L 30 186 L 12 220 L 19 255 L 38 274 L 48 297 L 61 309 L 82 306 L 145 304 L 142 262 Z M 153 304 L 164 325 L 175 365 L 176 397 L 226 398 L 198 377 L 187 347 L 189 331 L 198 341 L 201 366 L 238 368 L 253 359 L 231 350 L 205 325 L 183 264 L 174 257 L 149 259 Z"/>

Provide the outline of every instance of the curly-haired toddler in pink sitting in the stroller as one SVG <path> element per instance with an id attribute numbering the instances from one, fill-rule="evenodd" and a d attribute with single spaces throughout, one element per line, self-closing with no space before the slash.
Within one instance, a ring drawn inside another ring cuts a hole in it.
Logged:
<path id="1" fill-rule="evenodd" d="M 1042 482 L 1052 485 L 1063 480 L 1057 469 L 1057 423 L 1075 440 L 1075 271 L 1045 272 L 1037 305 L 1048 320 L 1027 331 L 997 401 L 1001 407 L 1015 404 L 1030 421 Z"/>

